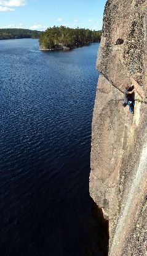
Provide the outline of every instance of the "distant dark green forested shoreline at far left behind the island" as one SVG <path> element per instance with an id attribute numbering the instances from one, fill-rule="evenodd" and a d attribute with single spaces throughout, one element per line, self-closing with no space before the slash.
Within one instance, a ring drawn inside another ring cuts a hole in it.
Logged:
<path id="1" fill-rule="evenodd" d="M 39 38 L 40 31 L 24 28 L 0 28 L 0 40 L 18 38 Z"/>

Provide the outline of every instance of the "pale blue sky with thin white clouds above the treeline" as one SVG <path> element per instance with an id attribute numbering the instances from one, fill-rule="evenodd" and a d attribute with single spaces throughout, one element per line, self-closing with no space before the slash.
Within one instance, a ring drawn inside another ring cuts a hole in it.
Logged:
<path id="1" fill-rule="evenodd" d="M 1 28 L 54 25 L 100 30 L 106 0 L 0 0 Z"/>

